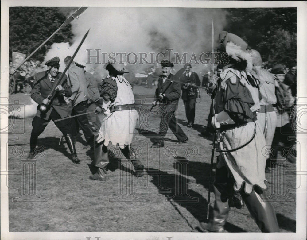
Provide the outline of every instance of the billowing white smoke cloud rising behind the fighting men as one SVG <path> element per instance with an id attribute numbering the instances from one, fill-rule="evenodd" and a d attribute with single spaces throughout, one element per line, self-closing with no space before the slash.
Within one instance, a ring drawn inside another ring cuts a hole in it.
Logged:
<path id="1" fill-rule="evenodd" d="M 109 60 L 111 52 L 139 52 L 159 51 L 171 48 L 172 52 L 178 52 L 181 56 L 188 52 L 187 60 L 192 53 L 198 57 L 201 52 L 211 52 L 211 20 L 214 22 L 215 39 L 225 25 L 225 12 L 216 8 L 136 8 L 136 7 L 89 7 L 79 19 L 72 21 L 72 33 L 75 38 L 73 45 L 68 43 L 55 43 L 45 56 L 45 61 L 58 56 L 60 57 L 60 72 L 64 71 L 64 58 L 72 56 L 82 37 L 90 29 L 82 47 L 75 57 L 75 61 L 85 64 L 86 70 L 95 70 L 101 75 L 106 75 L 103 69 L 103 61 Z M 95 64 L 95 58 L 91 58 L 92 64 L 86 64 L 87 51 L 101 49 L 99 55 L 100 64 Z M 103 59 L 102 52 L 106 52 Z M 119 56 L 115 57 L 119 61 Z M 134 56 L 130 56 L 130 62 Z M 150 57 L 147 58 L 150 62 Z M 126 59 L 123 59 L 126 61 Z M 193 62 L 192 62 L 193 64 Z M 149 68 L 149 65 L 127 65 L 130 71 L 141 71 Z M 175 66 L 180 69 L 182 66 Z M 202 71 L 203 64 L 193 65 L 193 71 Z M 91 71 L 90 70 L 90 71 Z"/>

